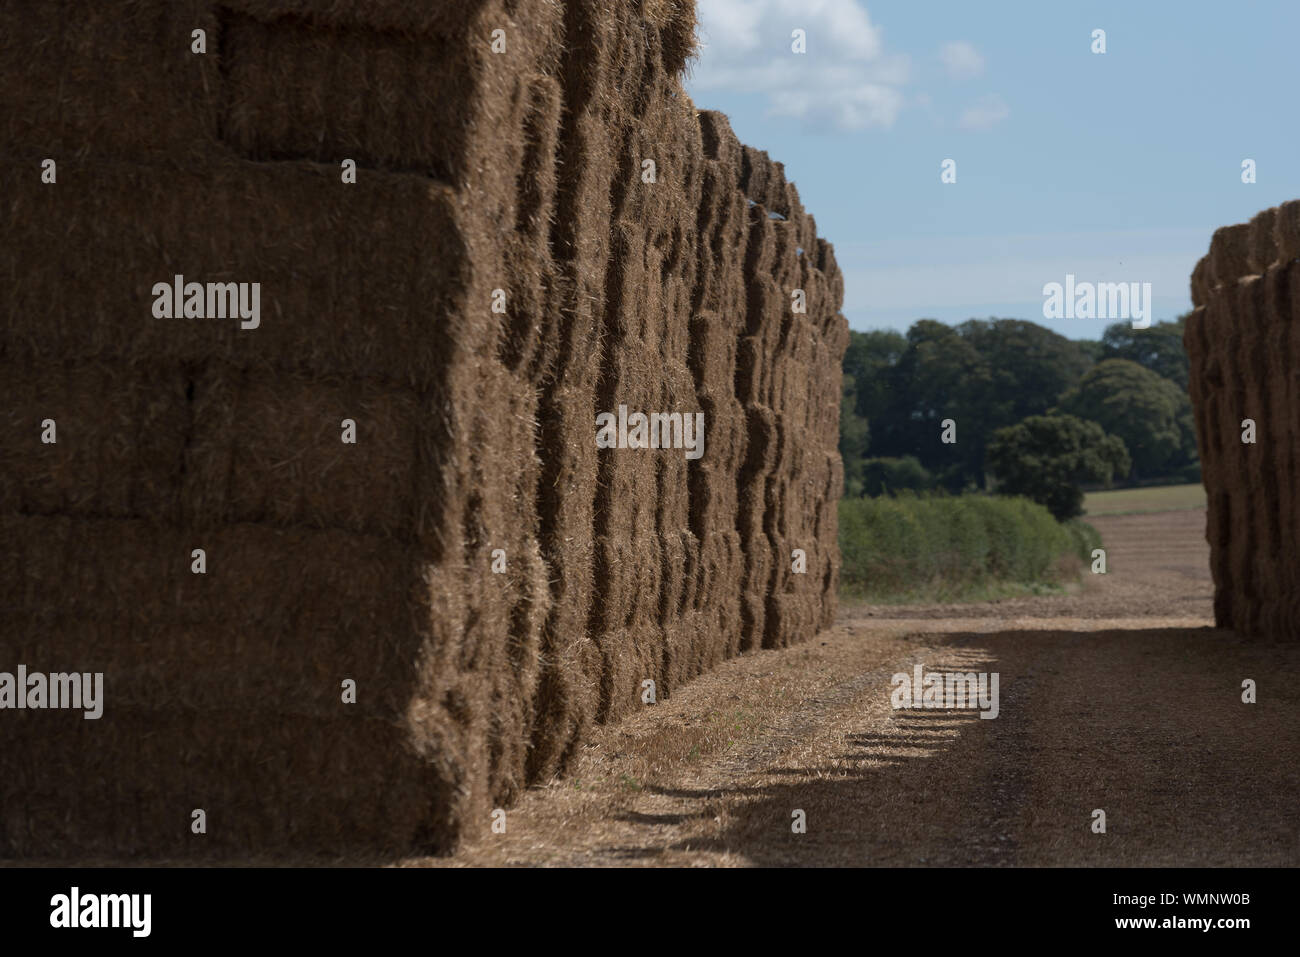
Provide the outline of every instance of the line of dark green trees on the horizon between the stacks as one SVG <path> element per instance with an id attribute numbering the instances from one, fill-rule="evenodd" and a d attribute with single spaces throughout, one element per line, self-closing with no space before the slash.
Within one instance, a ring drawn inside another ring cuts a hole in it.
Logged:
<path id="1" fill-rule="evenodd" d="M 1082 486 L 1199 481 L 1184 321 L 1117 322 L 1093 341 L 1018 319 L 850 333 L 845 494 L 994 490 L 1067 519 Z"/>

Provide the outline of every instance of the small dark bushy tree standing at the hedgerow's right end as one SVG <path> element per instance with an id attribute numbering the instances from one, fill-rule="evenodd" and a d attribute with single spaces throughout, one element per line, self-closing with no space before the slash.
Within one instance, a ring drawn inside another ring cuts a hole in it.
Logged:
<path id="1" fill-rule="evenodd" d="M 998 494 L 1024 495 L 1058 521 L 1083 514 L 1082 482 L 1110 485 L 1130 468 L 1122 439 L 1070 415 L 1036 415 L 998 429 L 988 443 L 988 464 Z"/>

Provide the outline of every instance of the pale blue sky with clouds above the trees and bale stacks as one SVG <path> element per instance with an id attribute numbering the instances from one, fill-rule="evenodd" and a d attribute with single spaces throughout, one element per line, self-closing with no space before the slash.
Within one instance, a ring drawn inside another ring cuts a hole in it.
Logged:
<path id="1" fill-rule="evenodd" d="M 854 329 L 1001 316 L 1096 338 L 1108 320 L 1043 319 L 1066 273 L 1150 282 L 1173 319 L 1216 228 L 1300 196 L 1296 0 L 697 5 L 686 88 L 785 164 Z"/>

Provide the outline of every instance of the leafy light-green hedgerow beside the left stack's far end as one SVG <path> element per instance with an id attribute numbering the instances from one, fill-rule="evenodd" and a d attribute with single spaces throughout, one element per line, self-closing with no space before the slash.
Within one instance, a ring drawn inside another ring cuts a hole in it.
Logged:
<path id="1" fill-rule="evenodd" d="M 1027 498 L 983 494 L 845 498 L 841 589 L 850 598 L 971 598 L 1058 585 L 1101 537 Z"/>

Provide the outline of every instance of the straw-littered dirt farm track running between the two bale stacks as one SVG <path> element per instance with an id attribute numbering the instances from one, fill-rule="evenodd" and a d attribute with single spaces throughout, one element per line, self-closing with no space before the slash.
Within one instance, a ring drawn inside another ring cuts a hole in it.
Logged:
<path id="1" fill-rule="evenodd" d="M 1300 648 L 1213 628 L 1204 510 L 1091 521 L 1109 573 L 1071 594 L 841 607 L 597 729 L 504 833 L 402 863 L 1300 863 Z M 997 672 L 1000 715 L 894 710 L 918 663 Z"/>

